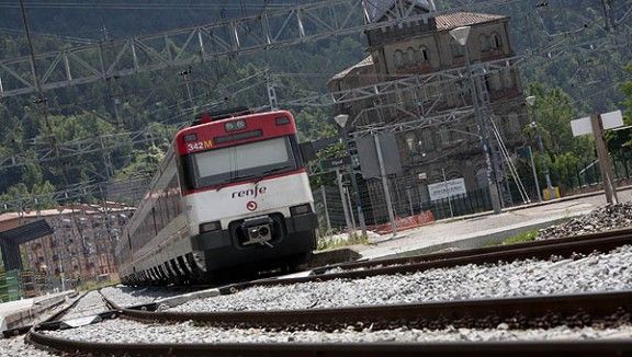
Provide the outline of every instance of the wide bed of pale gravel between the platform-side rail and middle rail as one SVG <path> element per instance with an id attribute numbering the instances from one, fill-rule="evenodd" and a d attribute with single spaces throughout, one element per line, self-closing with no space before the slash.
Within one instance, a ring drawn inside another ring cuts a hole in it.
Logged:
<path id="1" fill-rule="evenodd" d="M 632 246 L 576 260 L 517 261 L 356 280 L 253 287 L 169 311 L 336 308 L 632 289 Z"/>

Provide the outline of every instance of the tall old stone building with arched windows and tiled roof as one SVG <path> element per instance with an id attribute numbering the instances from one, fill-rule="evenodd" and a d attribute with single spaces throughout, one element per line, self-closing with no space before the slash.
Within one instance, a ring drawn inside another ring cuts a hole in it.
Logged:
<path id="1" fill-rule="evenodd" d="M 384 1 L 376 2 L 384 3 Z M 408 1 L 408 3 L 411 3 Z M 339 103 L 336 114 L 349 114 L 351 130 L 394 126 L 398 123 L 441 117 L 469 108 L 472 113 L 471 85 L 465 71 L 464 47 L 450 35 L 460 26 L 471 26 L 467 41 L 470 61 L 479 87 L 483 116 L 512 153 L 523 145 L 522 129 L 529 123 L 519 69 L 509 38 L 509 18 L 496 14 L 454 12 L 432 16 L 425 0 L 413 1 L 415 11 L 428 13 L 426 21 L 403 26 L 384 26 L 366 32 L 370 54 L 358 65 L 329 80 L 336 93 L 374 83 L 417 77 L 418 85 L 400 85 L 397 91 L 366 100 Z M 393 5 L 373 11 L 374 22 L 388 19 Z M 478 72 L 477 72 L 478 71 Z M 392 181 L 396 197 L 415 204 L 429 201 L 428 185 L 464 178 L 467 192 L 487 188 L 486 161 L 481 146 L 478 122 L 474 115 L 414 129 L 395 130 L 404 171 Z M 490 134 L 490 138 L 494 138 Z M 497 140 L 492 140 L 497 181 L 507 201 L 507 177 Z M 421 177 L 421 178 L 420 178 Z M 424 178 L 425 177 L 425 178 Z M 406 183 L 397 185 L 397 180 Z M 371 186 L 371 182 L 368 183 Z M 400 193 L 402 187 L 409 192 Z M 369 187 L 371 192 L 371 187 Z"/>

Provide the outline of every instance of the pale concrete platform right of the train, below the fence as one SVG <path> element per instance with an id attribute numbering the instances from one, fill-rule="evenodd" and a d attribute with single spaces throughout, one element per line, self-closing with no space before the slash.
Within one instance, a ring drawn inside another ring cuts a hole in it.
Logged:
<path id="1" fill-rule="evenodd" d="M 621 203 L 632 201 L 632 188 L 619 191 Z M 371 245 L 352 249 L 362 258 L 385 258 L 431 253 L 444 249 L 471 249 L 496 244 L 505 239 L 584 216 L 606 204 L 602 194 L 562 198 L 545 204 L 505 210 L 500 215 L 482 214 L 437 221 L 430 226 L 398 232 L 397 237 L 371 238 Z"/>

